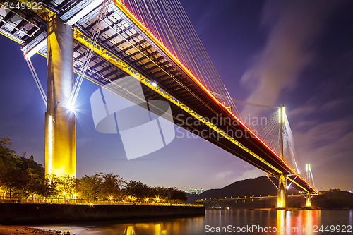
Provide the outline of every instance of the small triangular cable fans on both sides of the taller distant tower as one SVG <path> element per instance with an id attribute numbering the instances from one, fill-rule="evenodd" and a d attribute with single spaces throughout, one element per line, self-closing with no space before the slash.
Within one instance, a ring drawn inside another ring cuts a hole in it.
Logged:
<path id="1" fill-rule="evenodd" d="M 280 107 L 281 108 L 281 107 Z M 284 109 L 283 109 L 284 110 Z M 258 137 L 270 146 L 280 156 L 280 109 L 268 117 L 261 118 L 257 123 L 249 126 Z M 282 126 L 283 157 L 285 162 L 292 167 L 297 174 L 303 172 L 297 147 L 294 144 L 292 129 L 285 112 L 283 112 L 284 124 Z"/>

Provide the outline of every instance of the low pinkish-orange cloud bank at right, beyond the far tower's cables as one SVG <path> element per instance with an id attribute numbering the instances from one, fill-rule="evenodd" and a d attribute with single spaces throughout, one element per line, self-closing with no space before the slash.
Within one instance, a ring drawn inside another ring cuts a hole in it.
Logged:
<path id="1" fill-rule="evenodd" d="M 301 162 L 310 163 L 319 190 L 353 188 L 352 117 L 316 123 L 294 131 Z M 351 187 L 351 188 L 349 188 Z"/>

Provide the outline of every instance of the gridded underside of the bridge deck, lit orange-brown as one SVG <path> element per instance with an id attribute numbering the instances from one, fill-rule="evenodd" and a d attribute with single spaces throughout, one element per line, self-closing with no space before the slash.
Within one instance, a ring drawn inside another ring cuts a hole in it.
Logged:
<path id="1" fill-rule="evenodd" d="M 62 1 L 61 8 L 58 5 L 56 6 L 56 10 L 60 12 L 64 8 L 66 10 L 70 7 L 72 8 L 74 5 L 70 4 L 71 1 Z M 227 138 L 222 138 L 222 136 L 214 133 L 215 131 L 205 124 L 198 122 L 191 114 L 184 112 L 183 109 L 180 109 L 180 107 L 171 102 L 174 123 L 188 131 L 197 130 L 193 131 L 196 134 L 207 133 L 208 137 L 203 136 L 203 138 L 227 152 L 244 159 L 244 161 L 262 169 L 268 174 L 277 175 L 279 174 L 278 171 L 283 174 L 294 174 L 290 167 L 284 164 L 261 140 L 254 138 L 253 134 L 229 114 L 225 107 L 215 102 L 213 97 L 210 97 L 201 85 L 191 78 L 173 59 L 167 56 L 164 50 L 160 49 L 117 6 L 112 4 L 107 12 L 107 18 L 103 23 L 100 22 L 97 24 L 97 20 L 99 20 L 97 18 L 97 11 L 99 10 L 100 7 L 95 8 L 85 18 L 79 20 L 74 27 L 88 37 L 93 34 L 95 28 L 100 27 L 97 44 L 100 44 L 100 46 L 107 49 L 111 54 L 119 57 L 121 61 L 124 61 L 131 68 L 138 71 L 138 73 L 155 81 L 160 88 L 169 92 L 170 95 L 177 97 L 179 101 L 193 109 L 197 114 L 209 120 L 217 120 L 218 123 L 214 124 L 218 128 L 249 148 L 249 150 L 260 156 L 268 164 L 253 157 L 253 155 L 241 147 L 237 147 L 237 145 L 234 145 Z M 1 6 L 0 16 L 2 18 L 0 22 L 1 33 L 6 34 L 7 37 L 12 37 L 13 40 L 24 44 L 25 47 L 32 47 L 31 44 L 35 44 L 35 42 L 39 42 L 42 38 L 46 37 L 46 22 L 35 13 L 32 13 L 32 11 L 7 11 L 4 9 L 4 6 Z M 76 41 L 74 45 L 74 68 L 76 72 L 80 71 L 80 66 L 84 62 L 85 51 L 86 47 Z M 46 56 L 46 48 L 44 47 L 40 50 L 40 53 Z M 85 76 L 95 83 L 106 85 L 107 83 L 112 83 L 114 80 L 124 78 L 128 74 L 103 59 L 99 54 L 93 53 Z M 143 85 L 143 92 L 145 93 L 146 100 L 166 100 L 145 85 Z M 167 101 L 169 102 L 169 100 Z M 227 121 L 220 121 L 221 119 L 225 120 L 225 118 Z M 185 123 L 186 120 L 193 121 Z M 275 167 L 278 171 L 275 171 L 269 165 Z M 291 179 L 294 179 L 294 177 L 289 176 Z M 303 191 L 304 188 L 307 191 L 314 192 L 309 184 L 301 178 L 297 177 L 295 182 L 297 184 L 293 183 L 293 186 L 298 187 L 300 185 L 302 187 L 299 187 L 299 190 Z"/>

